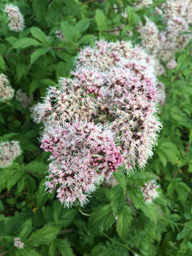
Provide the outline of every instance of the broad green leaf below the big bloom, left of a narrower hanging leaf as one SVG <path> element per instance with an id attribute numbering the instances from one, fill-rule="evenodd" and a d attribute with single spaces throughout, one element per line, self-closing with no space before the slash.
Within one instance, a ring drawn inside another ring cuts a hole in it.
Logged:
<path id="1" fill-rule="evenodd" d="M 97 232 L 98 230 L 107 230 L 115 222 L 114 215 L 112 213 L 112 207 L 110 204 L 105 206 L 99 206 L 91 214 L 88 227 L 92 232 Z"/>

